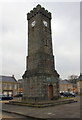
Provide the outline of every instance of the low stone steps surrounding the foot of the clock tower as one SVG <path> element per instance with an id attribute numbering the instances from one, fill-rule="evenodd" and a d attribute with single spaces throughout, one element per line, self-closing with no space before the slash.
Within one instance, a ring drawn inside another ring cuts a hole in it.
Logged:
<path id="1" fill-rule="evenodd" d="M 55 100 L 55 101 L 46 101 L 46 102 L 19 102 L 19 101 L 10 101 L 6 104 L 13 104 L 13 105 L 19 105 L 19 106 L 27 106 L 27 107 L 37 107 L 37 108 L 43 108 L 43 107 L 50 107 L 55 105 L 62 105 L 62 104 L 70 104 L 77 102 L 74 99 L 66 99 L 66 100 Z"/>

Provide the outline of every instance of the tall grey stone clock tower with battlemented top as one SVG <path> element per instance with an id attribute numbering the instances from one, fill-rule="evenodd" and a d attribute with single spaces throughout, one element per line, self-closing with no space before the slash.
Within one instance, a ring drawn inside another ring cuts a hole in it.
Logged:
<path id="1" fill-rule="evenodd" d="M 23 75 L 23 100 L 41 101 L 59 96 L 59 74 L 52 50 L 51 13 L 37 5 L 27 14 L 28 56 Z"/>

